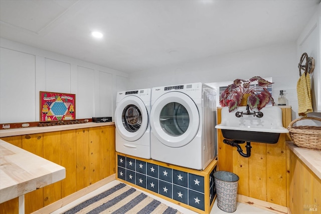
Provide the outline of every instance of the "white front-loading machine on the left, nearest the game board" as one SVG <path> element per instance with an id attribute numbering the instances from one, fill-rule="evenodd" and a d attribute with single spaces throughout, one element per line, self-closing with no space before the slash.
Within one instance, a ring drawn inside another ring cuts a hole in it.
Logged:
<path id="1" fill-rule="evenodd" d="M 117 93 L 116 151 L 150 159 L 150 89 Z"/>

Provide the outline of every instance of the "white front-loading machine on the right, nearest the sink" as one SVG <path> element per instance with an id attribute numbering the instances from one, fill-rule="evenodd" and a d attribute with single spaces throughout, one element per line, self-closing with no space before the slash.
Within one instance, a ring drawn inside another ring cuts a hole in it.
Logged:
<path id="1" fill-rule="evenodd" d="M 202 83 L 155 87 L 151 93 L 151 158 L 205 169 L 217 155 L 216 91 Z"/>

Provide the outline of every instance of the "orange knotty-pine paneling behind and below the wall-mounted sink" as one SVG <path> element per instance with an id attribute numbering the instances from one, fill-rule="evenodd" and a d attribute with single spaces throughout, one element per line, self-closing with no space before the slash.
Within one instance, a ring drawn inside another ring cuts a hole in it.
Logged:
<path id="1" fill-rule="evenodd" d="M 221 109 L 217 109 L 218 124 L 221 123 Z M 283 126 L 291 122 L 291 108 L 281 108 Z M 289 149 L 285 141 L 287 134 L 281 134 L 275 144 L 251 142 L 251 156 L 242 157 L 236 147 L 223 143 L 218 130 L 218 168 L 237 174 L 238 194 L 287 206 L 289 186 Z M 241 145 L 246 151 L 245 144 Z"/>

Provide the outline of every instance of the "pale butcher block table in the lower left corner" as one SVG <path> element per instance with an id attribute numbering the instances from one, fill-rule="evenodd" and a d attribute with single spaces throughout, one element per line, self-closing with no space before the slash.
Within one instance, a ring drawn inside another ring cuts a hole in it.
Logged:
<path id="1" fill-rule="evenodd" d="M 19 197 L 25 213 L 25 194 L 66 177 L 66 169 L 0 140 L 0 203 Z"/>

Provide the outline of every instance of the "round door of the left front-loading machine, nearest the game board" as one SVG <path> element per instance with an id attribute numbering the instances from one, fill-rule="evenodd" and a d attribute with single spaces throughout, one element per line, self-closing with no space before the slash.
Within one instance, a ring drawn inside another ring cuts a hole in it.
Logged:
<path id="1" fill-rule="evenodd" d="M 136 96 L 122 99 L 115 110 L 115 126 L 119 135 L 127 141 L 136 141 L 145 133 L 148 125 L 146 106 Z"/>

